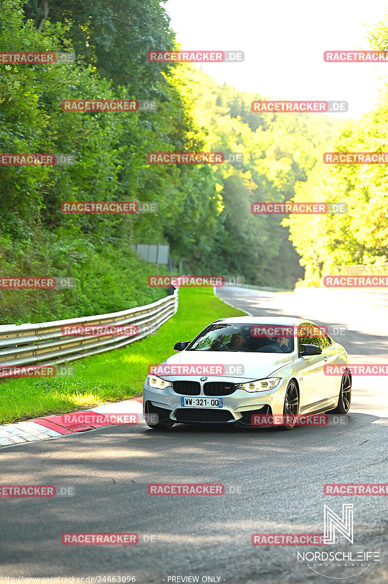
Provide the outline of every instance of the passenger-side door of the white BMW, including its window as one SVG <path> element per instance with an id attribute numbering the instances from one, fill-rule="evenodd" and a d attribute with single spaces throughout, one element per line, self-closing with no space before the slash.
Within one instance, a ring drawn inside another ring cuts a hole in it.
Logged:
<path id="1" fill-rule="evenodd" d="M 309 322 L 303 323 L 298 327 L 298 356 L 300 359 L 299 371 L 300 380 L 302 381 L 302 407 L 303 409 L 311 407 L 323 401 L 326 396 L 326 377 L 323 367 L 325 364 L 324 355 L 300 356 L 300 345 L 316 345 L 320 347 L 320 335 L 317 328 Z M 319 406 L 317 406 L 318 408 Z"/>

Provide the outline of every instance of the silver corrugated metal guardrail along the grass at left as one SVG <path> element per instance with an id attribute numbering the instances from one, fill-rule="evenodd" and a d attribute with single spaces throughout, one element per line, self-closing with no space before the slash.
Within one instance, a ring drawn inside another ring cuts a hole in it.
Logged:
<path id="1" fill-rule="evenodd" d="M 178 309 L 178 290 L 152 304 L 130 310 L 99 314 L 90 317 L 69 318 L 63 321 L 38 324 L 0 326 L 0 367 L 22 365 L 57 365 L 65 361 L 82 359 L 118 347 L 151 334 Z M 63 326 L 104 325 L 138 326 L 135 336 L 122 335 L 72 335 L 64 336 Z"/>

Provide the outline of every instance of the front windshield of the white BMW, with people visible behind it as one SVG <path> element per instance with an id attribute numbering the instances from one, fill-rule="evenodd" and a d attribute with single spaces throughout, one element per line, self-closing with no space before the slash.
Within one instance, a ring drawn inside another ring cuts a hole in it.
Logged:
<path id="1" fill-rule="evenodd" d="M 214 323 L 205 328 L 186 350 L 292 353 L 291 329 L 284 325 Z"/>

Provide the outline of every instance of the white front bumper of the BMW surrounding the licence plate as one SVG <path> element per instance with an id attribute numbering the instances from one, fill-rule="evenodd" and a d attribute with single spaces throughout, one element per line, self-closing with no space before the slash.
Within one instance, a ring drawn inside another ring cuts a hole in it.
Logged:
<path id="1" fill-rule="evenodd" d="M 246 383 L 248 379 L 215 377 L 212 381 L 228 381 L 229 383 Z M 174 378 L 176 381 L 176 378 Z M 185 378 L 185 381 L 198 381 L 198 377 Z M 200 382 L 201 383 L 201 382 Z M 157 413 L 159 421 L 167 419 L 181 423 L 250 423 L 250 416 L 260 413 L 282 415 L 287 380 L 282 379 L 274 390 L 250 393 L 245 390 L 236 390 L 233 394 L 217 396 L 222 398 L 222 408 L 217 406 L 208 408 L 189 408 L 181 406 L 181 398 L 209 398 L 204 395 L 201 383 L 199 395 L 182 395 L 176 393 L 172 387 L 158 390 L 144 384 L 143 405 L 145 413 Z M 162 408 L 161 410 L 159 408 Z"/>

